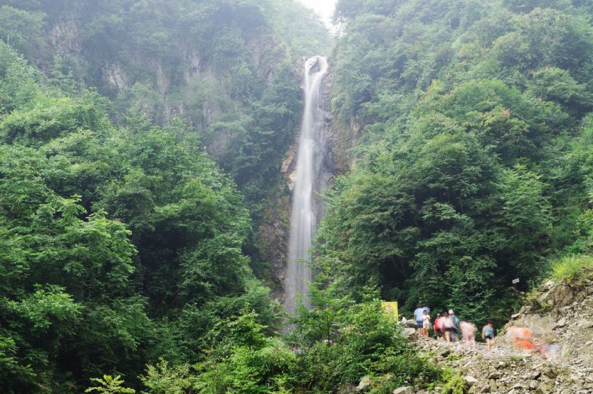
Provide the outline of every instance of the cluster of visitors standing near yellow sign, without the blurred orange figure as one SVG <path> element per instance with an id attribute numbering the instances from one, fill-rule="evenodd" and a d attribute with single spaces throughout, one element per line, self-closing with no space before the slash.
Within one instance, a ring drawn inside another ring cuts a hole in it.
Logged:
<path id="1" fill-rule="evenodd" d="M 431 309 L 424 306 L 418 306 L 414 309 L 414 318 L 416 319 L 416 326 L 418 333 L 425 338 L 429 338 L 429 332 L 433 328 L 435 338 L 437 340 L 445 340 L 446 342 L 455 342 L 459 339 L 461 334 L 462 340 L 473 345 L 476 341 L 476 325 L 469 321 L 460 321 L 455 315 L 453 309 L 443 312 L 442 314 L 436 314 L 434 324 L 431 324 Z M 405 317 L 402 318 L 405 323 Z M 488 351 L 492 350 L 494 340 L 494 324 L 489 321 L 481 331 L 482 339 L 486 340 Z"/>

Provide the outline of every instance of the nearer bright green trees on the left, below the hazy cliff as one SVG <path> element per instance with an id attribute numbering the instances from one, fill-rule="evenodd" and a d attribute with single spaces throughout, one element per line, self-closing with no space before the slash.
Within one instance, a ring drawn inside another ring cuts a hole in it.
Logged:
<path id="1" fill-rule="evenodd" d="M 246 304 L 273 325 L 241 252 L 248 211 L 196 135 L 181 121 L 115 128 L 103 99 L 68 97 L 0 51 L 3 392 L 197 360 Z"/>

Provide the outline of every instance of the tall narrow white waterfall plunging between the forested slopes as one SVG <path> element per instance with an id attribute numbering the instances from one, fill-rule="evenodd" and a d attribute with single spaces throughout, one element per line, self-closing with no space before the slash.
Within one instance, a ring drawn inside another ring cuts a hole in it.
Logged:
<path id="1" fill-rule="evenodd" d="M 323 161 L 325 154 L 325 113 L 323 111 L 322 83 L 328 72 L 325 57 L 314 56 L 305 62 L 305 108 L 301 123 L 299 151 L 296 155 L 296 182 L 292 190 L 289 250 L 284 278 L 284 309 L 294 314 L 295 302 L 302 295 L 309 306 L 311 282 L 311 241 L 317 226 L 319 209 L 315 202 L 323 187 Z"/>

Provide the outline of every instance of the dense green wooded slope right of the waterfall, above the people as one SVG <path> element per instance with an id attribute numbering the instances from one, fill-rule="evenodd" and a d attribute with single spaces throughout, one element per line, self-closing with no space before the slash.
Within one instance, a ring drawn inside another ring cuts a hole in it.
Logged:
<path id="1" fill-rule="evenodd" d="M 505 321 L 514 278 L 525 290 L 556 254 L 590 251 L 567 245 L 590 220 L 592 16 L 568 0 L 338 2 L 333 104 L 360 143 L 318 264 L 344 293 L 372 279 L 405 310 Z"/>

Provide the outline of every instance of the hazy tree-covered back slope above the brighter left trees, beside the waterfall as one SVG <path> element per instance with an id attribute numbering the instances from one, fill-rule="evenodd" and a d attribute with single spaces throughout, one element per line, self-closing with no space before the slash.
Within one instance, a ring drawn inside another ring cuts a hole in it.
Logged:
<path id="1" fill-rule="evenodd" d="M 234 179 L 258 227 L 301 116 L 302 56 L 330 35 L 294 0 L 4 1 L 0 39 L 80 94 L 112 99 L 116 125 L 181 118 Z M 265 264 L 265 262 L 264 262 Z"/>

